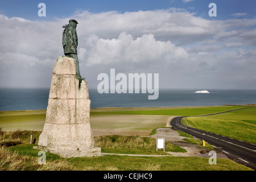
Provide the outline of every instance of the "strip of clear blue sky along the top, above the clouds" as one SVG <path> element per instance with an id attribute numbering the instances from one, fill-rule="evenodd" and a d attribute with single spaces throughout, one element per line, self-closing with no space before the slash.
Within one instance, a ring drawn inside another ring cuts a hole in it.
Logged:
<path id="1" fill-rule="evenodd" d="M 188 1 L 188 2 L 185 2 Z M 191 13 L 196 13 L 203 18 L 212 19 L 208 16 L 210 10 L 208 5 L 211 2 L 217 5 L 217 17 L 214 19 L 229 19 L 232 14 L 242 13 L 246 14 L 236 18 L 250 18 L 256 16 L 254 0 L 76 0 L 76 1 L 42 1 L 42 0 L 23 0 L 23 1 L 0 1 L 0 13 L 5 14 L 9 18 L 13 16 L 22 17 L 30 20 L 42 20 L 39 17 L 38 4 L 43 2 L 47 7 L 47 16 L 44 19 L 50 20 L 54 18 L 63 18 L 71 16 L 76 11 L 89 11 L 90 13 L 101 13 L 104 11 L 118 11 L 125 13 L 126 11 L 148 11 L 148 10 L 162 10 L 171 7 L 186 9 Z"/>

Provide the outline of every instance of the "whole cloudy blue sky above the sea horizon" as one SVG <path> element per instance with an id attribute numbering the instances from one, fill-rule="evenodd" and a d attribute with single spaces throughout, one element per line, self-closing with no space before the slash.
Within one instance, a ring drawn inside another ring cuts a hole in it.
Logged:
<path id="1" fill-rule="evenodd" d="M 39 3 L 46 16 L 39 16 Z M 209 16 L 210 3 L 216 15 Z M 76 19 L 80 73 L 159 73 L 159 88 L 256 89 L 256 1 L 0 1 L 0 88 L 49 88 Z"/>

